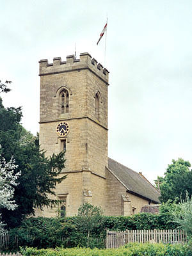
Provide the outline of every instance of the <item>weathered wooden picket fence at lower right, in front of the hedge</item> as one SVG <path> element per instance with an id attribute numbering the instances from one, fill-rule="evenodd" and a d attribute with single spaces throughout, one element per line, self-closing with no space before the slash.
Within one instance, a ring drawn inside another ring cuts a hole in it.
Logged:
<path id="1" fill-rule="evenodd" d="M 127 243 L 186 243 L 183 230 L 107 231 L 106 248 L 118 248 Z"/>

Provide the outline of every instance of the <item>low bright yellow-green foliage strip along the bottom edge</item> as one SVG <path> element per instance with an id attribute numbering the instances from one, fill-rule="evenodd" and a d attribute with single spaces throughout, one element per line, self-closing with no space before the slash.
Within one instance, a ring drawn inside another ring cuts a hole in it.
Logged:
<path id="1" fill-rule="evenodd" d="M 72 248 L 72 249 L 42 249 L 24 248 L 21 250 L 23 256 L 191 256 L 192 251 L 187 245 L 181 244 L 127 244 L 118 249 L 99 250 L 97 248 Z"/>

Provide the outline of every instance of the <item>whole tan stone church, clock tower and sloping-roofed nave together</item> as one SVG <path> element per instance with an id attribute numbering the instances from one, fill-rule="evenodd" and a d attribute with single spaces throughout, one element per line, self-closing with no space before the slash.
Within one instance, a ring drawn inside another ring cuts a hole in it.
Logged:
<path id="1" fill-rule="evenodd" d="M 159 191 L 142 175 L 108 157 L 108 76 L 88 52 L 40 60 L 40 147 L 65 152 L 67 178 L 56 185 L 58 209 L 36 216 L 74 216 L 88 202 L 108 216 L 130 216 L 159 204 Z"/>

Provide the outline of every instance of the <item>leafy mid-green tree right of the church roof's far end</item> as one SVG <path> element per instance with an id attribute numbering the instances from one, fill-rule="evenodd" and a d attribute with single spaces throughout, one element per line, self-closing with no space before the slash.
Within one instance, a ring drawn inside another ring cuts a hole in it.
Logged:
<path id="1" fill-rule="evenodd" d="M 168 168 L 164 173 L 164 177 L 158 177 L 161 180 L 159 187 L 161 190 L 161 202 L 168 200 L 177 202 L 185 198 L 186 191 L 189 196 L 192 195 L 192 172 L 189 169 L 191 164 L 179 158 L 177 161 L 172 160 L 172 164 L 168 164 Z"/>

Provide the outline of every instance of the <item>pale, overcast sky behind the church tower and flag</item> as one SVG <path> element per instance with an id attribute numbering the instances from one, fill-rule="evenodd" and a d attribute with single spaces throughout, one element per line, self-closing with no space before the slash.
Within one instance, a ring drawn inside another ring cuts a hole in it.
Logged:
<path id="1" fill-rule="evenodd" d="M 151 182 L 172 159 L 192 163 L 191 0 L 6 0 L 0 9 L 0 80 L 12 81 L 1 97 L 22 106 L 28 131 L 39 130 L 38 61 L 65 61 L 76 45 L 77 58 L 89 52 L 110 72 L 109 157 Z"/>

